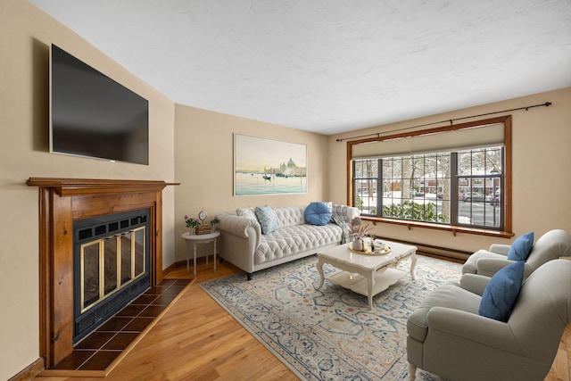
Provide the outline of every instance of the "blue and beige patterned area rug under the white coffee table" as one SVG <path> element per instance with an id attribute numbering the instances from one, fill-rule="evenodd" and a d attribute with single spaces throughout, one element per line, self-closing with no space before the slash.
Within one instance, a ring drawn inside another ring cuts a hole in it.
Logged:
<path id="1" fill-rule="evenodd" d="M 321 289 L 317 256 L 253 274 L 223 277 L 201 286 L 287 367 L 306 380 L 406 380 L 406 323 L 438 285 L 460 277 L 460 265 L 418 256 L 410 274 L 375 296 L 326 280 Z M 408 270 L 410 260 L 399 268 Z M 326 264 L 326 277 L 338 271 Z M 418 379 L 440 380 L 418 370 Z"/>

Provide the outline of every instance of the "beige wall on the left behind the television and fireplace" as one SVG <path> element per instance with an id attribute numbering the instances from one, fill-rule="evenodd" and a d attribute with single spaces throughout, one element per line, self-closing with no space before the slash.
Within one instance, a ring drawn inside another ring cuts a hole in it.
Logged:
<path id="1" fill-rule="evenodd" d="M 56 44 L 149 100 L 150 165 L 48 153 L 48 52 Z M 0 2 L 0 379 L 38 358 L 38 190 L 29 177 L 174 181 L 174 103 L 21 0 Z M 174 188 L 164 191 L 165 265 L 174 261 Z"/>

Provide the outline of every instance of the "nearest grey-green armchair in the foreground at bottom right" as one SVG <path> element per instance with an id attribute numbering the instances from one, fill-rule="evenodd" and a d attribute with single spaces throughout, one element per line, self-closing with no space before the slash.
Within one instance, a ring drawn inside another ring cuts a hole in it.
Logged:
<path id="1" fill-rule="evenodd" d="M 542 380 L 571 322 L 571 261 L 543 264 L 527 277 L 507 322 L 478 314 L 490 277 L 429 294 L 407 323 L 410 380 L 417 368 L 451 380 Z"/>

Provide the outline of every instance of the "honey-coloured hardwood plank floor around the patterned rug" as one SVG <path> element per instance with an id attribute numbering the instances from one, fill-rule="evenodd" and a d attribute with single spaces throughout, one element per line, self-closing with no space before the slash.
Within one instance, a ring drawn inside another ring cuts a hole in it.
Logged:
<path id="1" fill-rule="evenodd" d="M 237 271 L 228 262 L 197 266 L 197 278 L 105 380 L 297 380 L 294 373 L 260 344 L 198 286 Z M 165 278 L 190 278 L 186 267 Z M 245 275 L 244 275 L 245 278 Z M 571 326 L 550 375 L 544 381 L 571 381 Z M 36 377 L 37 381 L 101 380 L 101 377 Z"/>

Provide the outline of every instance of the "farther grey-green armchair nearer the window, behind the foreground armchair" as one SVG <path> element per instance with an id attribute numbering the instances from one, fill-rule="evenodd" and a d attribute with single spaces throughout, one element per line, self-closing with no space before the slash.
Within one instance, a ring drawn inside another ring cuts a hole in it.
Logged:
<path id="1" fill-rule="evenodd" d="M 489 250 L 478 250 L 470 255 L 462 274 L 480 274 L 492 277 L 514 261 L 508 260 L 509 244 L 492 244 Z M 538 269 L 543 263 L 571 255 L 571 236 L 565 230 L 550 230 L 541 236 L 532 247 L 525 261 L 524 277 Z"/>

